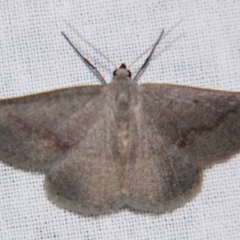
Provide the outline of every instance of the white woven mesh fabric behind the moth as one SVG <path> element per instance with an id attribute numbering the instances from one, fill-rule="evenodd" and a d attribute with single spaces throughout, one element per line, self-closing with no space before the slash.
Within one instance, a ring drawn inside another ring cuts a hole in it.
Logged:
<path id="1" fill-rule="evenodd" d="M 0 1 L 0 97 L 98 83 L 61 35 L 109 82 L 161 29 L 184 21 L 158 46 L 140 82 L 240 91 L 239 1 Z M 146 58 L 133 67 L 133 73 Z M 44 176 L 0 162 L 0 239 L 240 239 L 240 155 L 207 169 L 202 193 L 172 213 L 129 210 L 83 217 L 49 202 Z"/>

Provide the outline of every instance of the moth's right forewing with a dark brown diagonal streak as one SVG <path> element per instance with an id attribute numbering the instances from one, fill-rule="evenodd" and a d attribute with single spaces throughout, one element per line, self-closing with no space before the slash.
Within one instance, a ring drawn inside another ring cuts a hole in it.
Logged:
<path id="1" fill-rule="evenodd" d="M 140 88 L 147 123 L 198 164 L 240 151 L 240 93 L 167 84 Z"/>

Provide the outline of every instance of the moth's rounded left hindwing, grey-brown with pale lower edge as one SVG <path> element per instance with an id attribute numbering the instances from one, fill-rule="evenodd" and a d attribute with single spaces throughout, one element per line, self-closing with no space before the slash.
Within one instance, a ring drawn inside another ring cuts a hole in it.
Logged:
<path id="1" fill-rule="evenodd" d="M 116 123 L 108 106 L 102 106 L 84 140 L 56 158 L 46 175 L 48 198 L 60 207 L 99 214 L 122 205 Z"/>

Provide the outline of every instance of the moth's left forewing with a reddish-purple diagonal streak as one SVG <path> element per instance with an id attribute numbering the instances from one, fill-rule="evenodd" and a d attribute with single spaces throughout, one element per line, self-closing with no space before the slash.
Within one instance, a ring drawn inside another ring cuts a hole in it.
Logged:
<path id="1" fill-rule="evenodd" d="M 83 139 L 98 119 L 102 86 L 58 90 L 0 101 L 0 159 L 46 169 Z"/>

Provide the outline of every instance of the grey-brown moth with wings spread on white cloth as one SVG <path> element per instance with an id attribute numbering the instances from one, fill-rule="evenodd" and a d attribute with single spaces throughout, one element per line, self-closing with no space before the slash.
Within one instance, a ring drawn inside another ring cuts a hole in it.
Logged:
<path id="1" fill-rule="evenodd" d="M 67 36 L 64 37 L 69 41 Z M 141 84 L 125 64 L 102 81 L 0 101 L 0 159 L 45 173 L 48 198 L 83 214 L 162 213 L 201 188 L 203 168 L 240 152 L 240 93 Z"/>

